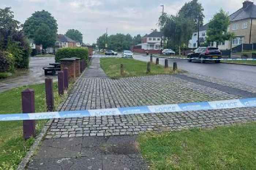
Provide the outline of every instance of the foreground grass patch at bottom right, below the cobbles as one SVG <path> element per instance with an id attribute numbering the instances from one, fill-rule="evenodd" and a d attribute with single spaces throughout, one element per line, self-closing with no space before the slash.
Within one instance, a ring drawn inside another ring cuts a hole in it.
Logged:
<path id="1" fill-rule="evenodd" d="M 151 170 L 255 170 L 256 122 L 139 136 Z"/>

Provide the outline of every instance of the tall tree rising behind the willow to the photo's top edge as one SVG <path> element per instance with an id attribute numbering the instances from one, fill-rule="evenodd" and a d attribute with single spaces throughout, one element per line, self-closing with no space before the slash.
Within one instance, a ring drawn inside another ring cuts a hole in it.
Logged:
<path id="1" fill-rule="evenodd" d="M 188 3 L 185 3 L 180 11 L 178 12 L 178 15 L 184 16 L 184 18 L 190 18 L 193 20 L 193 28 L 197 28 L 197 24 L 199 21 L 199 26 L 203 26 L 203 14 L 204 8 L 202 7 L 202 4 L 198 2 L 198 0 L 192 0 Z"/>

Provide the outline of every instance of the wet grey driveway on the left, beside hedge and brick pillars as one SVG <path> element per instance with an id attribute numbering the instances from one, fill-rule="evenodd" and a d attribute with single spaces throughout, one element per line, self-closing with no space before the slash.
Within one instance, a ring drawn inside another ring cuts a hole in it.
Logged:
<path id="1" fill-rule="evenodd" d="M 54 63 L 54 57 L 30 57 L 29 72 L 15 78 L 0 80 L 0 92 L 14 87 L 44 83 L 46 76 L 44 76 L 44 70 L 42 68 L 48 66 L 49 63 Z M 57 76 L 51 77 L 53 80 L 57 80 Z"/>

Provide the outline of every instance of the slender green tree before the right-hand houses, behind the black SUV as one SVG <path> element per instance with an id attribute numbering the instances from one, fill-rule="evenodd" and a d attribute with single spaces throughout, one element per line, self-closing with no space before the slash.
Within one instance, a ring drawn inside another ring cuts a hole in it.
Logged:
<path id="1" fill-rule="evenodd" d="M 228 33 L 227 27 L 230 24 L 229 15 L 227 12 L 222 9 L 217 12 L 214 17 L 208 23 L 208 29 L 206 31 L 207 42 L 223 42 L 229 40 L 231 37 L 234 37 L 234 33 Z"/>

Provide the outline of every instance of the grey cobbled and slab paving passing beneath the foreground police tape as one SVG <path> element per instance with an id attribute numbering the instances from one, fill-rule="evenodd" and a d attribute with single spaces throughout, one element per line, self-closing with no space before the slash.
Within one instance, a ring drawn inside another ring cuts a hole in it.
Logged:
<path id="1" fill-rule="evenodd" d="M 61 110 L 162 105 L 256 96 L 255 93 L 238 88 L 221 90 L 223 82 L 205 83 L 202 78 L 198 81 L 201 82 L 170 75 L 111 80 L 99 67 L 99 58 L 95 57 Z M 28 169 L 147 169 L 136 143 L 139 133 L 255 121 L 255 110 L 248 107 L 55 119 L 42 148 L 30 162 Z"/>

